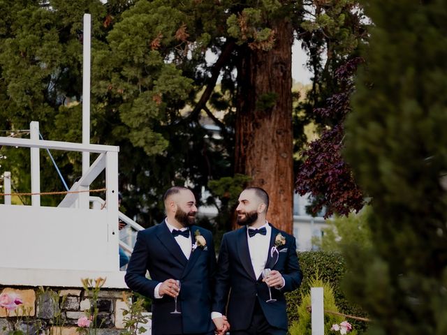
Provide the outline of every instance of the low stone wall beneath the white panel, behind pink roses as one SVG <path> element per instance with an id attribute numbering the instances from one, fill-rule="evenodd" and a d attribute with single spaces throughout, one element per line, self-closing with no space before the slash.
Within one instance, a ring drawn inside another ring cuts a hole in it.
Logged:
<path id="1" fill-rule="evenodd" d="M 0 285 L 0 294 L 17 295 L 22 299 L 15 311 L 0 307 L 0 335 L 12 329 L 24 334 L 78 334 L 78 319 L 85 316 L 91 306 L 90 297 L 84 289 L 24 288 Z M 120 334 L 124 329 L 123 311 L 128 310 L 127 293 L 124 290 L 101 289 L 96 306 L 98 315 L 96 334 Z M 8 315 L 9 314 L 9 315 Z"/>

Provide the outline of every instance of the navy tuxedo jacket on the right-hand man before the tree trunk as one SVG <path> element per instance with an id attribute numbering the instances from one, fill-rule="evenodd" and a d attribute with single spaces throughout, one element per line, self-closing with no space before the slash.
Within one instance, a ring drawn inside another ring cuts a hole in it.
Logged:
<path id="1" fill-rule="evenodd" d="M 268 286 L 262 281 L 262 276 L 255 277 L 251 265 L 247 227 L 223 235 L 217 262 L 216 292 L 212 311 L 227 315 L 233 331 L 249 327 L 256 299 L 258 299 L 270 325 L 287 330 L 284 292 L 298 288 L 302 281 L 302 272 L 296 253 L 295 237 L 270 226 L 272 227 L 272 237 L 265 269 L 281 272 L 285 281 L 284 288 L 281 290 L 271 288 L 272 298 L 277 301 L 270 303 L 265 302 L 269 299 Z M 278 252 L 274 252 L 272 255 L 270 251 L 274 246 L 274 239 L 279 233 L 286 237 L 286 244 L 279 246 Z"/>

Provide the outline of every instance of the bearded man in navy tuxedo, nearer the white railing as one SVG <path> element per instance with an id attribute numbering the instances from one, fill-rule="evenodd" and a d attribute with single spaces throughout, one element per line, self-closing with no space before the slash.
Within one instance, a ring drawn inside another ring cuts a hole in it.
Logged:
<path id="1" fill-rule="evenodd" d="M 126 284 L 152 298 L 152 334 L 214 334 L 212 234 L 193 225 L 196 198 L 188 188 L 169 188 L 163 200 L 166 220 L 138 232 Z"/>

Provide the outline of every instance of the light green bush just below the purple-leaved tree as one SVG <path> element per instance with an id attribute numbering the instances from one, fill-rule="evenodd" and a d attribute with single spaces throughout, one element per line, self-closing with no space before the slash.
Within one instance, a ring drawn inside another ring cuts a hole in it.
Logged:
<path id="1" fill-rule="evenodd" d="M 371 232 L 367 225 L 367 218 L 372 211 L 367 206 L 360 213 L 349 216 L 336 216 L 326 220 L 328 228 L 323 228 L 323 237 L 312 238 L 312 244 L 322 251 L 342 253 L 344 246 L 356 245 L 360 248 L 371 246 Z"/>

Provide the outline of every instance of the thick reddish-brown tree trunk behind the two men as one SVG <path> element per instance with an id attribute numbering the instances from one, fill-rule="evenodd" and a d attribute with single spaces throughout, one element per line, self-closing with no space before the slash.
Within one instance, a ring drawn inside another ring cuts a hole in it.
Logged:
<path id="1" fill-rule="evenodd" d="M 235 172 L 270 195 L 268 221 L 292 232 L 292 43 L 288 22 L 278 22 L 272 50 L 243 47 L 237 71 Z M 272 98 L 273 101 L 272 101 Z M 270 101 L 270 103 L 269 103 Z"/>

